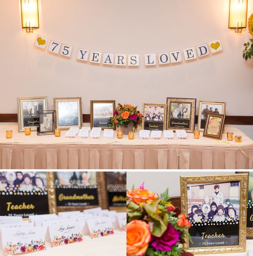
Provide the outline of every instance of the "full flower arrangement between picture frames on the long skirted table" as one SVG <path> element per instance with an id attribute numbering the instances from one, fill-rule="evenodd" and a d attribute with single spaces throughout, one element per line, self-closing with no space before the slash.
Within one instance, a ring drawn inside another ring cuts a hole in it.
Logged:
<path id="1" fill-rule="evenodd" d="M 116 125 L 120 127 L 124 125 L 125 127 L 128 124 L 132 124 L 135 130 L 138 125 L 141 125 L 143 115 L 140 114 L 140 111 L 137 110 L 137 106 L 134 107 L 129 104 L 121 105 L 118 103 L 116 110 L 113 112 L 113 117 L 110 117 L 110 127 Z"/>

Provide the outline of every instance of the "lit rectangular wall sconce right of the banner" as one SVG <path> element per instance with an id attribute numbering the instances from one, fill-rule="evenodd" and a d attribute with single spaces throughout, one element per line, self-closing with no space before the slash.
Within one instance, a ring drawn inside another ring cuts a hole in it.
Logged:
<path id="1" fill-rule="evenodd" d="M 241 33 L 247 26 L 248 0 L 230 0 L 229 2 L 229 28 L 235 33 Z"/>

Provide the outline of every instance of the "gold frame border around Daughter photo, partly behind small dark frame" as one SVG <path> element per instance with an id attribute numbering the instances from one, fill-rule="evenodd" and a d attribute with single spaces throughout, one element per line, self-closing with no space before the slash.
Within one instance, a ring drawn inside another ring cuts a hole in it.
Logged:
<path id="1" fill-rule="evenodd" d="M 48 97 L 22 97 L 17 98 L 17 107 L 18 107 L 18 128 L 19 132 L 24 132 L 24 123 L 23 123 L 23 108 L 22 108 L 22 101 L 43 101 L 44 108 L 43 110 L 48 110 Z M 31 131 L 37 130 L 36 126 L 31 126 Z"/>

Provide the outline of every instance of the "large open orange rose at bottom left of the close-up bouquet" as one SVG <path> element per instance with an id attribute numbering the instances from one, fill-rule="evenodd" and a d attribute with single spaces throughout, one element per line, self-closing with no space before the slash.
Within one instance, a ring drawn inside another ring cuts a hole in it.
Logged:
<path id="1" fill-rule="evenodd" d="M 127 256 L 143 256 L 151 240 L 149 225 L 142 220 L 127 223 Z"/>

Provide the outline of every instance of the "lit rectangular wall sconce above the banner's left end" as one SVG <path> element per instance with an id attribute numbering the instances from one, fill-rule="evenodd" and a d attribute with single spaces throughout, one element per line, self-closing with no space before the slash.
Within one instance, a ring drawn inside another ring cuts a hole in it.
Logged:
<path id="1" fill-rule="evenodd" d="M 39 28 L 38 0 L 21 0 L 21 23 L 27 33 Z"/>

